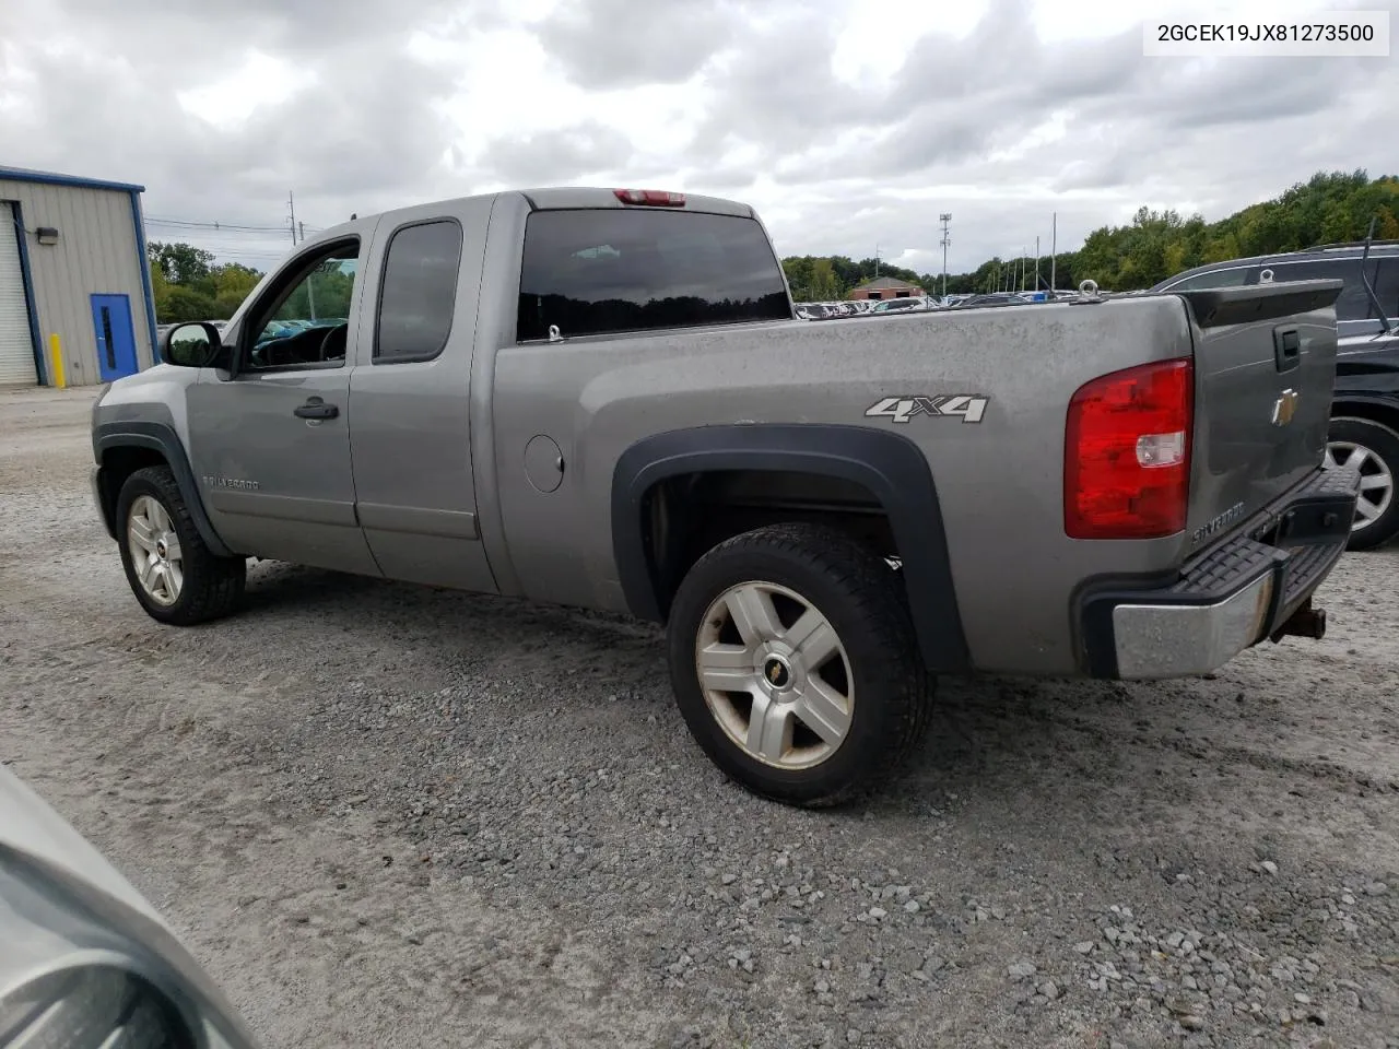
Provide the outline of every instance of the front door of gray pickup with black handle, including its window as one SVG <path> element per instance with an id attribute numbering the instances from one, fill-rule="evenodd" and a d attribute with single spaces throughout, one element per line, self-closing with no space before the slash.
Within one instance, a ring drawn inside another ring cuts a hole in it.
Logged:
<path id="1" fill-rule="evenodd" d="M 379 575 L 350 469 L 360 253 L 347 236 L 290 262 L 227 331 L 236 371 L 206 369 L 189 390 L 194 474 L 239 554 Z"/>

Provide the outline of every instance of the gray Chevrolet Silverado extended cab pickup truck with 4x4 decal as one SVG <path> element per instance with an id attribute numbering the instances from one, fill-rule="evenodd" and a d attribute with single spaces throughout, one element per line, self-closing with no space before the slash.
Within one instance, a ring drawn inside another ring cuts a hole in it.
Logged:
<path id="1" fill-rule="evenodd" d="M 162 622 L 235 608 L 248 557 L 665 622 L 709 757 L 831 803 L 935 674 L 1319 636 L 1357 485 L 1322 469 L 1339 290 L 810 324 L 744 204 L 424 204 L 169 331 L 94 407 L 95 494 Z"/>

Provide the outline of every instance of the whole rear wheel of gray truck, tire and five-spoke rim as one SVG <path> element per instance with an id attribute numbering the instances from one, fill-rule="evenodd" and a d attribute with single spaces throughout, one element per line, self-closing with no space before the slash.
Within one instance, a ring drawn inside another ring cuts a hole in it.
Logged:
<path id="1" fill-rule="evenodd" d="M 695 741 L 774 800 L 839 803 L 926 726 L 932 684 L 902 582 L 834 529 L 762 527 L 701 557 L 676 593 L 667 650 Z"/>

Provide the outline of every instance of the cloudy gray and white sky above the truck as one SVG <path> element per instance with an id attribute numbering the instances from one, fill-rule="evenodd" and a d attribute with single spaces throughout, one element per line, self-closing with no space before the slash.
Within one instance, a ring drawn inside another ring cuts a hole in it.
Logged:
<path id="1" fill-rule="evenodd" d="M 140 182 L 151 220 L 641 186 L 751 201 L 782 255 L 919 271 L 950 211 L 956 273 L 1048 253 L 1053 211 L 1073 249 L 1142 204 L 1219 218 L 1322 168 L 1399 173 L 1399 56 L 1142 53 L 1143 18 L 1399 0 L 3 3 L 0 164 Z M 291 243 L 150 234 L 259 269 Z"/>

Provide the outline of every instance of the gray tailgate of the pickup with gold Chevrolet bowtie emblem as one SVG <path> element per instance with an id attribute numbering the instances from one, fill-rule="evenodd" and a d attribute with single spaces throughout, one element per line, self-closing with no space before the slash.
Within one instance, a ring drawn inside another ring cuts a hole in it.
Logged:
<path id="1" fill-rule="evenodd" d="M 1336 376 L 1339 280 L 1177 292 L 1195 340 L 1189 550 L 1321 466 Z"/>

